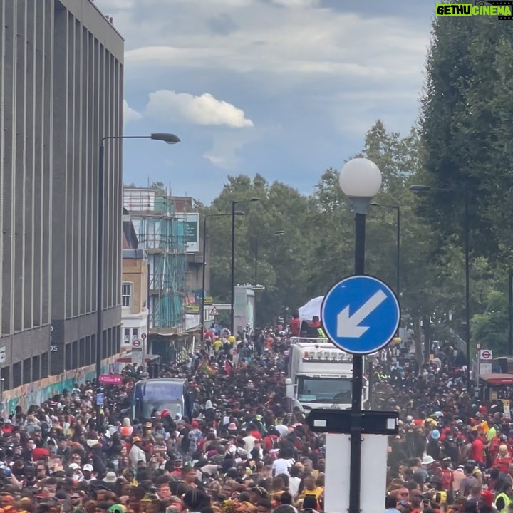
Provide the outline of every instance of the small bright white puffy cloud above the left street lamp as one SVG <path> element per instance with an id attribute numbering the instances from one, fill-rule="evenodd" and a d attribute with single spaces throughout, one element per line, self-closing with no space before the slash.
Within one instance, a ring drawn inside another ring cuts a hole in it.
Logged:
<path id="1" fill-rule="evenodd" d="M 145 114 L 153 118 L 172 118 L 192 125 L 224 125 L 231 128 L 252 127 L 244 110 L 217 100 L 210 93 L 201 96 L 159 90 L 150 93 Z"/>

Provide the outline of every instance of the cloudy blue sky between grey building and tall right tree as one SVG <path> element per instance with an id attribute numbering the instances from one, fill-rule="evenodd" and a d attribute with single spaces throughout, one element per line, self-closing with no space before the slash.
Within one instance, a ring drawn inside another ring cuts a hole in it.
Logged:
<path id="1" fill-rule="evenodd" d="M 125 183 L 210 202 L 257 172 L 309 194 L 381 118 L 418 116 L 434 3 L 95 0 L 125 37 Z"/>

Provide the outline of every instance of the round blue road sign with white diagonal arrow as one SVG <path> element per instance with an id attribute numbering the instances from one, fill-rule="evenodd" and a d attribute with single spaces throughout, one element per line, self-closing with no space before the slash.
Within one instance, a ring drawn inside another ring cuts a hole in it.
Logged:
<path id="1" fill-rule="evenodd" d="M 321 322 L 326 336 L 343 351 L 375 353 L 398 330 L 399 301 L 383 281 L 373 276 L 349 276 L 324 296 Z"/>

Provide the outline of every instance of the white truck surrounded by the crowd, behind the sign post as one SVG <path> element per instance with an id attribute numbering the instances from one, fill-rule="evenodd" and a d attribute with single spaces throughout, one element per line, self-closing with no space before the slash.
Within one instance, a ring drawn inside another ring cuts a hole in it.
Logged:
<path id="1" fill-rule="evenodd" d="M 326 338 L 291 338 L 286 396 L 289 408 L 351 408 L 352 356 Z M 368 399 L 363 380 L 362 408 Z"/>

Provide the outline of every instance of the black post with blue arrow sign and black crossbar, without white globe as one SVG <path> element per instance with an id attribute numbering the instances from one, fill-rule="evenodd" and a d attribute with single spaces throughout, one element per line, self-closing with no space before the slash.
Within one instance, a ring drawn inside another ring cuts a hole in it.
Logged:
<path id="1" fill-rule="evenodd" d="M 321 322 L 326 336 L 346 353 L 353 354 L 351 410 L 312 410 L 307 423 L 314 432 L 351 435 L 351 474 L 348 510 L 361 507 L 361 467 L 363 435 L 396 435 L 397 412 L 362 411 L 363 355 L 385 347 L 397 333 L 400 306 L 390 287 L 363 274 L 365 216 L 356 224 L 355 271 L 333 285 L 321 305 Z M 362 274 L 358 274 L 362 273 Z"/>

